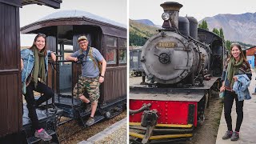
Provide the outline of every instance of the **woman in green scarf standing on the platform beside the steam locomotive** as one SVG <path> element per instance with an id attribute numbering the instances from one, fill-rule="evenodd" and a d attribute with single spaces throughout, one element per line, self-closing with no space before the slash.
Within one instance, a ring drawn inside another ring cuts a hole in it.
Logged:
<path id="1" fill-rule="evenodd" d="M 225 90 L 224 96 L 224 115 L 226 119 L 227 131 L 222 139 L 231 138 L 231 141 L 237 141 L 239 138 L 239 130 L 242 125 L 243 118 L 243 99 L 239 101 L 238 94 L 232 90 L 234 82 L 238 81 L 238 74 L 246 74 L 248 78 L 251 79 L 250 65 L 246 61 L 244 54 L 242 53 L 242 48 L 238 43 L 233 43 L 231 45 L 230 58 L 226 62 L 226 68 L 222 74 L 222 80 L 226 76 L 226 81 L 222 82 L 222 87 L 220 91 Z M 227 74 L 227 75 L 226 75 Z M 236 112 L 237 112 L 237 122 L 235 130 L 232 130 L 232 118 L 231 109 L 235 99 Z"/>

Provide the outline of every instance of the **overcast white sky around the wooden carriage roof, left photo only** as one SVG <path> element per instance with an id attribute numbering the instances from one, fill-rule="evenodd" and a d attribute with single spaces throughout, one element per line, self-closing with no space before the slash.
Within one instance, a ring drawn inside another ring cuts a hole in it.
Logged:
<path id="1" fill-rule="evenodd" d="M 62 0 L 61 8 L 27 5 L 20 8 L 20 26 L 61 10 L 83 10 L 127 26 L 127 0 Z M 21 34 L 21 46 L 32 46 L 34 34 Z"/>

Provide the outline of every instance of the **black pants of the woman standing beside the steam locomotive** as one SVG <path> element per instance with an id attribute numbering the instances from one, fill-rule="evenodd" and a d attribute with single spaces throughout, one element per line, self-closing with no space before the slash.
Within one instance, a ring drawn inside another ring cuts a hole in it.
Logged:
<path id="1" fill-rule="evenodd" d="M 243 111 L 242 111 L 243 101 L 238 101 L 238 94 L 235 94 L 234 92 L 231 92 L 228 90 L 225 91 L 224 114 L 225 114 L 227 129 L 231 131 L 232 130 L 231 109 L 233 106 L 234 99 L 235 99 L 235 105 L 236 105 L 236 112 L 238 114 L 235 131 L 239 132 L 242 124 L 242 118 L 243 118 Z"/>

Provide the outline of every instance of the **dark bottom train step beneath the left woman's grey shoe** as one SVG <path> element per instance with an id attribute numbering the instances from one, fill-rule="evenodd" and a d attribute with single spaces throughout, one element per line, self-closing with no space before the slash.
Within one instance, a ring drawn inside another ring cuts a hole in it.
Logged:
<path id="1" fill-rule="evenodd" d="M 58 143 L 58 138 L 56 133 L 54 132 L 54 130 L 46 130 L 46 132 L 48 134 L 50 134 L 53 139 L 51 139 L 50 141 L 43 141 L 41 138 L 36 138 L 36 137 L 30 137 L 27 138 L 27 143 L 28 144 L 32 144 L 32 143 L 50 143 L 50 144 L 54 144 L 54 143 Z"/>

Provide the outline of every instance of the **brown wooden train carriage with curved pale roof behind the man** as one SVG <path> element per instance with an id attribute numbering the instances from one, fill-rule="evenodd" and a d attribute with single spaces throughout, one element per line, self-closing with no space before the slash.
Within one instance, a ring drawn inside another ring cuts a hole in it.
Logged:
<path id="1" fill-rule="evenodd" d="M 97 48 L 107 62 L 105 81 L 100 87 L 100 105 L 126 101 L 126 26 L 85 11 L 64 10 L 24 26 L 21 31 L 46 34 L 48 49 L 60 56 L 59 61 L 79 50 L 77 39 L 86 35 L 89 45 Z M 71 62 L 59 62 L 59 74 L 52 73 L 50 68 L 48 84 L 57 94 L 71 93 L 77 82 L 77 70 L 81 72 Z M 55 80 L 51 82 L 53 74 Z"/>

